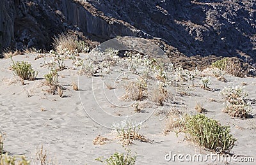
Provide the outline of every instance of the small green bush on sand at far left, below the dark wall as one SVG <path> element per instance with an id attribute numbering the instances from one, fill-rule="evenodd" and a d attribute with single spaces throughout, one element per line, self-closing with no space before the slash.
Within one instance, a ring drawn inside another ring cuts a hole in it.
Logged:
<path id="1" fill-rule="evenodd" d="M 29 64 L 26 61 L 12 61 L 12 69 L 13 73 L 23 80 L 35 80 L 38 72 L 34 71 L 34 69 L 31 67 L 31 64 Z"/>

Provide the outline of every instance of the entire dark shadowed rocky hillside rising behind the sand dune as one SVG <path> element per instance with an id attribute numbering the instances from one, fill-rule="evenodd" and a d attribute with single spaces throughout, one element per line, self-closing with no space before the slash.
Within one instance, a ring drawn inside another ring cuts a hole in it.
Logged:
<path id="1" fill-rule="evenodd" d="M 1 47 L 51 48 L 68 29 L 93 41 L 160 38 L 188 57 L 237 56 L 256 62 L 255 0 L 10 0 L 0 2 Z"/>

